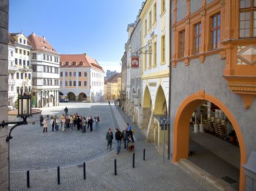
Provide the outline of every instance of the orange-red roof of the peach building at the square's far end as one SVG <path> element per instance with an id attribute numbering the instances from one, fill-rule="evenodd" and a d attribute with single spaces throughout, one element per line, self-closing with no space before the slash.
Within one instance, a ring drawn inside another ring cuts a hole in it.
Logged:
<path id="1" fill-rule="evenodd" d="M 66 62 L 69 62 L 68 66 L 66 65 Z M 61 55 L 61 68 L 80 67 L 91 67 L 103 71 L 99 63 L 95 59 L 92 59 L 91 57 L 87 56 L 86 53 Z"/>

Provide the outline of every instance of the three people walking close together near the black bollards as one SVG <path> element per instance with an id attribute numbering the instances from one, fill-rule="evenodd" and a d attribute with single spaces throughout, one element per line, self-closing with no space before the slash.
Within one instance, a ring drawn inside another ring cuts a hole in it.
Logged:
<path id="1" fill-rule="evenodd" d="M 134 143 L 134 137 L 133 137 L 133 130 L 131 128 L 131 125 L 127 123 L 127 127 L 124 128 L 124 130 L 121 132 L 118 128 L 115 128 L 115 140 L 116 140 L 116 148 L 117 148 L 117 154 L 121 150 L 121 142 L 124 142 L 124 149 L 128 150 L 129 142 L 132 141 Z M 109 128 L 106 140 L 107 140 L 107 150 L 108 148 L 112 149 L 112 140 L 114 139 L 114 135 L 112 132 L 112 129 Z"/>

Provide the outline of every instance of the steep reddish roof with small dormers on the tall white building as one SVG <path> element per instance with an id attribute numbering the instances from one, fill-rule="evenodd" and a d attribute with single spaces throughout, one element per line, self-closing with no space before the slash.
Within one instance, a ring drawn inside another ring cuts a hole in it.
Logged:
<path id="1" fill-rule="evenodd" d="M 44 51 L 49 53 L 54 53 L 59 55 L 58 52 L 52 47 L 52 45 L 45 39 L 45 37 L 37 36 L 35 33 L 32 33 L 28 36 L 28 40 L 31 42 L 33 50 Z"/>

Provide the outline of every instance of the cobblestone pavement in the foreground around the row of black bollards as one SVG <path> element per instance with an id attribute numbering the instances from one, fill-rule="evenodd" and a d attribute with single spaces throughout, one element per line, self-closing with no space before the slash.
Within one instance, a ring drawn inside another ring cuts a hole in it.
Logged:
<path id="1" fill-rule="evenodd" d="M 117 159 L 117 176 L 114 159 Z M 132 168 L 132 153 L 124 149 L 118 155 L 112 151 L 86 165 L 86 180 L 82 165 L 61 167 L 61 185 L 57 184 L 56 169 L 35 170 L 30 173 L 29 189 L 26 173 L 12 172 L 11 190 L 207 190 L 178 166 L 169 161 L 162 163 L 162 156 L 150 143 L 135 142 L 135 168 Z"/>

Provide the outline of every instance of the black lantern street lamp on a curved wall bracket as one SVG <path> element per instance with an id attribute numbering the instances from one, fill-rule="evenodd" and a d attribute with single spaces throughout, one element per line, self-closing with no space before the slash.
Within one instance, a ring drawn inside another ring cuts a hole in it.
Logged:
<path id="1" fill-rule="evenodd" d="M 28 122 L 26 122 L 26 118 L 29 118 L 31 115 L 31 93 L 32 89 L 29 87 L 22 86 L 21 88 L 17 88 L 18 93 L 18 115 L 17 118 L 20 117 L 23 119 L 23 121 L 16 121 L 16 122 L 5 122 L 4 120 L 1 123 L 2 128 L 5 127 L 5 125 L 9 124 L 15 124 L 10 132 L 9 135 L 6 138 L 6 142 L 9 142 L 10 139 L 12 139 L 11 132 L 16 128 L 16 126 L 19 125 L 26 125 Z"/>

